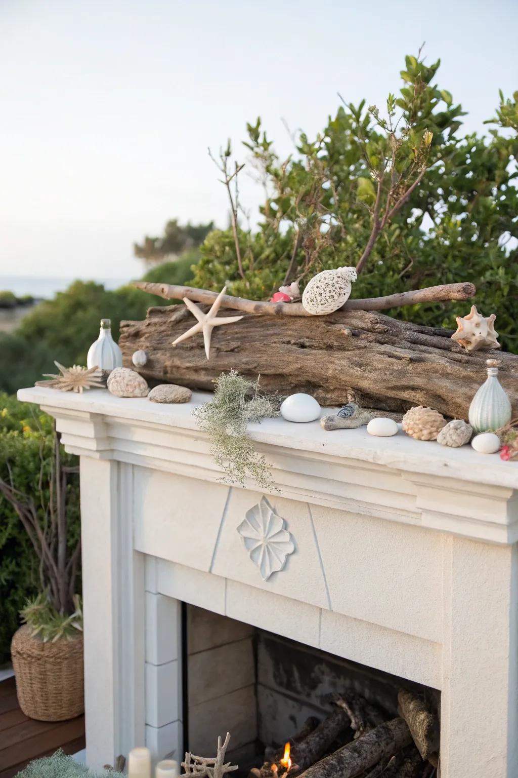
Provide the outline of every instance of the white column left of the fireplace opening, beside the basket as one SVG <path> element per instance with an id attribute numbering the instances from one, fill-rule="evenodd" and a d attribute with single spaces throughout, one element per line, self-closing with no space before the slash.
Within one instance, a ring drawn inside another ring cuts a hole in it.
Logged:
<path id="1" fill-rule="evenodd" d="M 86 761 L 144 745 L 144 560 L 134 551 L 133 468 L 81 457 Z"/>

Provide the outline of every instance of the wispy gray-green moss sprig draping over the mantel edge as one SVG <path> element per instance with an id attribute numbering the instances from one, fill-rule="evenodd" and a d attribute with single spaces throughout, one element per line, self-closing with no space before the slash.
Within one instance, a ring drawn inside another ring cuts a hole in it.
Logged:
<path id="1" fill-rule="evenodd" d="M 247 426 L 279 415 L 281 398 L 259 389 L 259 378 L 254 383 L 235 370 L 221 373 L 214 384 L 214 399 L 195 408 L 193 415 L 210 437 L 210 453 L 223 471 L 221 481 L 243 486 L 245 478 L 253 478 L 261 489 L 271 489 L 270 466 L 254 447 Z"/>

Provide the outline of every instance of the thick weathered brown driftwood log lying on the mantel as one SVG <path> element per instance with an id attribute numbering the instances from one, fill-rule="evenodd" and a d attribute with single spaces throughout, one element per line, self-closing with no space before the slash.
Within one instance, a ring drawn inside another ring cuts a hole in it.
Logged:
<path id="1" fill-rule="evenodd" d="M 221 310 L 222 316 L 235 310 Z M 355 397 L 364 408 L 405 411 L 425 405 L 457 419 L 485 380 L 485 360 L 496 357 L 500 380 L 518 415 L 518 356 L 495 351 L 465 352 L 450 340 L 451 330 L 422 327 L 364 310 L 329 316 L 244 314 L 218 327 L 210 347 L 196 335 L 173 348 L 172 341 L 194 323 L 184 305 L 155 307 L 145 321 L 123 321 L 123 364 L 133 366 L 138 349 L 148 354 L 139 368 L 144 378 L 192 389 L 213 390 L 213 381 L 231 368 L 252 380 L 261 374 L 269 392 L 313 394 L 322 405 L 342 405 Z"/>

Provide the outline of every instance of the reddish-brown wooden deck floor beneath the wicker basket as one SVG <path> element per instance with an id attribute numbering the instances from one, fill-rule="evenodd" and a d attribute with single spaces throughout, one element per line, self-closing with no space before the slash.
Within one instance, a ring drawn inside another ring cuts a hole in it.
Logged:
<path id="1" fill-rule="evenodd" d="M 85 717 L 70 721 L 34 721 L 19 710 L 14 678 L 0 683 L 0 778 L 16 776 L 27 762 L 63 748 L 85 748 Z"/>

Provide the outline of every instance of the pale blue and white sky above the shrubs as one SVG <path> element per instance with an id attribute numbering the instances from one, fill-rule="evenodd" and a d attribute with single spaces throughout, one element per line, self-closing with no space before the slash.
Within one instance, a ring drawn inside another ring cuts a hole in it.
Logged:
<path id="1" fill-rule="evenodd" d="M 207 147 L 262 117 L 280 153 L 383 106 L 426 41 L 482 131 L 518 89 L 516 0 L 0 0 L 0 274 L 130 279 L 167 219 L 228 223 Z M 260 191 L 242 173 L 242 202 Z"/>

